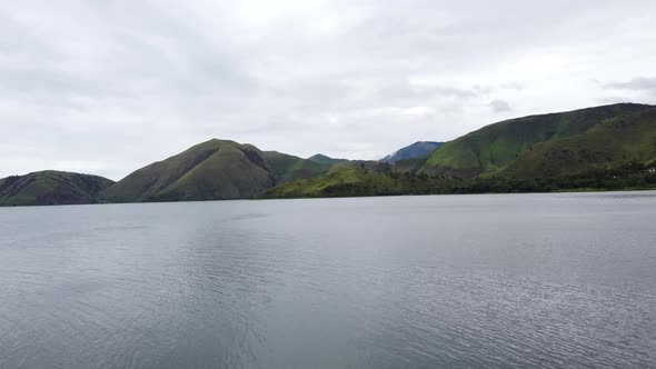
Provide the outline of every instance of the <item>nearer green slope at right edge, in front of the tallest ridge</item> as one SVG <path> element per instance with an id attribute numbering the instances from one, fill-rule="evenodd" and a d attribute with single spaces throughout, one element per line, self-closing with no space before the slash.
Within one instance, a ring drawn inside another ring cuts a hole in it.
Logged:
<path id="1" fill-rule="evenodd" d="M 656 160 L 656 109 L 607 119 L 587 132 L 541 142 L 498 172 L 509 178 L 575 174 Z"/>

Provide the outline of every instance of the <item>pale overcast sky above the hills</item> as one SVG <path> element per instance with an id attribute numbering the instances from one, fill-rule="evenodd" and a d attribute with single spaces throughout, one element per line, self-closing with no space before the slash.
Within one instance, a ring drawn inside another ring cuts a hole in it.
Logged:
<path id="1" fill-rule="evenodd" d="M 119 180 L 211 138 L 379 159 L 516 117 L 656 103 L 653 0 L 0 7 L 0 178 Z"/>

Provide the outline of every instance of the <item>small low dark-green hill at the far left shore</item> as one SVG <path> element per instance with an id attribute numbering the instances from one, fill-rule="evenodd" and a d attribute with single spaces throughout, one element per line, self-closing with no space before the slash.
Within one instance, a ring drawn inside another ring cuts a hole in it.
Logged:
<path id="1" fill-rule="evenodd" d="M 98 176 L 54 170 L 12 176 L 0 179 L 0 206 L 92 203 L 111 183 Z"/>

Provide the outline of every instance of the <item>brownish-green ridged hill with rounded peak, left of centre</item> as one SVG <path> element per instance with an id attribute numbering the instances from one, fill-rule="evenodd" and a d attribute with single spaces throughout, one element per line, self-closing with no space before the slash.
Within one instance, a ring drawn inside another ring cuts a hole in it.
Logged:
<path id="1" fill-rule="evenodd" d="M 212 139 L 143 167 L 101 193 L 112 202 L 239 199 L 295 178 L 328 171 L 322 166 L 252 144 Z"/>

